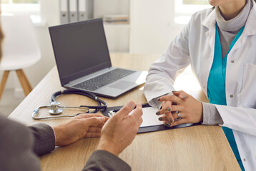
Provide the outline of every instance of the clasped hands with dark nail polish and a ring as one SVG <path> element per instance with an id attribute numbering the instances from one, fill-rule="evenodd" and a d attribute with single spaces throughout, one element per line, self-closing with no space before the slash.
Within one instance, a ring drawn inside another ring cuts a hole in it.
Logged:
<path id="1" fill-rule="evenodd" d="M 159 98 L 159 102 L 171 101 L 172 105 L 168 106 L 171 111 L 165 106 L 165 108 L 159 110 L 157 115 L 162 115 L 159 120 L 163 120 L 166 126 L 175 126 L 182 123 L 199 123 L 202 121 L 202 103 L 192 95 L 185 93 L 184 91 L 172 92 L 174 95 L 164 95 Z M 172 113 L 174 122 L 172 125 L 168 124 L 169 115 Z M 177 120 L 181 117 L 181 119 Z"/>

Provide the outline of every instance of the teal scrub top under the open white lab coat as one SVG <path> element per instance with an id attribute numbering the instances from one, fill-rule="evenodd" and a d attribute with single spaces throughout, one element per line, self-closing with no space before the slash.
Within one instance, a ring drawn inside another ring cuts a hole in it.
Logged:
<path id="1" fill-rule="evenodd" d="M 244 30 L 245 26 L 243 26 L 240 31 L 237 33 L 237 36 L 235 36 L 234 40 L 232 41 L 229 51 L 237 42 L 237 39 L 240 38 L 242 31 Z M 227 55 L 222 58 L 222 48 L 220 44 L 220 35 L 218 26 L 216 23 L 216 34 L 215 34 L 215 55 L 213 58 L 212 68 L 210 71 L 210 75 L 208 78 L 207 83 L 207 93 L 208 98 L 210 100 L 210 103 L 216 104 L 216 105 L 227 105 L 226 101 L 226 66 L 227 66 Z M 222 130 L 224 131 L 228 142 L 230 142 L 230 146 L 235 154 L 235 157 L 237 158 L 237 162 L 239 163 L 241 170 L 245 170 L 245 168 L 242 165 L 241 157 L 239 154 L 239 151 L 237 149 L 237 143 L 235 142 L 235 137 L 233 134 L 232 129 L 227 127 L 222 127 Z"/>

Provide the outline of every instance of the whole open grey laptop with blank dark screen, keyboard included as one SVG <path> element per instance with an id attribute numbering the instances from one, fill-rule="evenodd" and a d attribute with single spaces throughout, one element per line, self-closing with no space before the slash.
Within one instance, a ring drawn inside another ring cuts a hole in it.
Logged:
<path id="1" fill-rule="evenodd" d="M 112 67 L 102 19 L 49 27 L 61 86 L 116 98 L 145 83 L 147 72 Z"/>

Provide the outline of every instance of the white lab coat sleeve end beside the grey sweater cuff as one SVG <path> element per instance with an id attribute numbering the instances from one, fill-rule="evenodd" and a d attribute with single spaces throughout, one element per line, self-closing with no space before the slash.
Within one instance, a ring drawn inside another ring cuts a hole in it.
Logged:
<path id="1" fill-rule="evenodd" d="M 232 130 L 256 136 L 256 109 L 215 105 L 223 124 Z"/>

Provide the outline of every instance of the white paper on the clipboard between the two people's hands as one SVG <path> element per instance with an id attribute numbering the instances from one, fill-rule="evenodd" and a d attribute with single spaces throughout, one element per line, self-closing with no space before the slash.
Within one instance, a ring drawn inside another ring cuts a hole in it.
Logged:
<path id="1" fill-rule="evenodd" d="M 161 117 L 161 116 L 156 115 L 158 110 L 159 110 L 158 108 L 152 108 L 152 107 L 142 108 L 143 123 L 142 123 L 142 125 L 140 125 L 139 128 L 148 127 L 148 126 L 155 126 L 155 125 L 163 125 L 164 123 L 162 121 L 158 120 L 158 118 Z"/>

